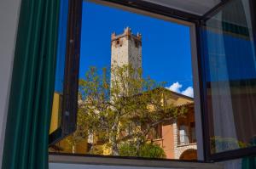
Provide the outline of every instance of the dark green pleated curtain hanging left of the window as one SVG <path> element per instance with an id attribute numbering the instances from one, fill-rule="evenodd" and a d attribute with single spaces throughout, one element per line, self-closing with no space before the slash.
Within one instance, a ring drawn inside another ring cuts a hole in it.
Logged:
<path id="1" fill-rule="evenodd" d="M 48 168 L 59 0 L 21 0 L 3 169 Z"/>

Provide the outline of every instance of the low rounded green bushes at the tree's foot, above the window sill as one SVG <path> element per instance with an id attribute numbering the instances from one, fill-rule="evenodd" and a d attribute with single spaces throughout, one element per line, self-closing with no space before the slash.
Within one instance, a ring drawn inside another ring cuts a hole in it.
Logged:
<path id="1" fill-rule="evenodd" d="M 158 144 L 144 143 L 137 154 L 135 144 L 122 144 L 119 147 L 119 155 L 121 156 L 139 156 L 148 158 L 166 158 L 164 149 Z"/>

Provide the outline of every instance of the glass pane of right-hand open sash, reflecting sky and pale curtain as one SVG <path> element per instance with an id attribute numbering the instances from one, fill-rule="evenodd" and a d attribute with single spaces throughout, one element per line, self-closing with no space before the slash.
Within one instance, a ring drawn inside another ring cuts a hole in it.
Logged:
<path id="1" fill-rule="evenodd" d="M 205 23 L 212 154 L 256 144 L 255 32 L 250 12 L 249 0 L 233 0 Z"/>

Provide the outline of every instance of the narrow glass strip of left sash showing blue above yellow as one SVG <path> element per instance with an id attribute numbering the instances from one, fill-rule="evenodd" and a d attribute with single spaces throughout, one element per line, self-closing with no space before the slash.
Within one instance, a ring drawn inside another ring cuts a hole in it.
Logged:
<path id="1" fill-rule="evenodd" d="M 62 98 L 64 87 L 64 70 L 66 56 L 68 0 L 61 0 L 58 30 L 58 49 L 55 70 L 55 93 L 53 97 L 49 133 L 61 127 Z"/>

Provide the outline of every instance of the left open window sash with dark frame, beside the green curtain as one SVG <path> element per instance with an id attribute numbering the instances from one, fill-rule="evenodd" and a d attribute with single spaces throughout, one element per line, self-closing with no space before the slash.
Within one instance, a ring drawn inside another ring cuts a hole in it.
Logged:
<path id="1" fill-rule="evenodd" d="M 55 144 L 76 130 L 81 2 L 61 0 L 49 151 L 60 150 Z"/>

